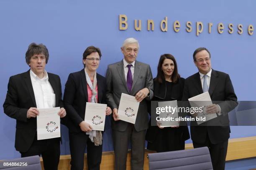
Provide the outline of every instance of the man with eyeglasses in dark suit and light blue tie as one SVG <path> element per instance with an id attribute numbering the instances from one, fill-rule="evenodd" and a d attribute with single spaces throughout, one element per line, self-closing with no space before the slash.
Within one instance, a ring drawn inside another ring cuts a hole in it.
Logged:
<path id="1" fill-rule="evenodd" d="M 217 116 L 209 120 L 213 124 L 194 126 L 192 122 L 190 132 L 193 146 L 194 148 L 207 146 L 210 150 L 213 169 L 224 170 L 230 133 L 228 112 L 236 107 L 237 97 L 229 75 L 212 69 L 211 55 L 206 48 L 197 48 L 193 59 L 199 72 L 185 80 L 182 100 L 188 100 L 190 97 L 208 91 L 213 103 L 218 103 L 206 108 L 207 114 Z"/>

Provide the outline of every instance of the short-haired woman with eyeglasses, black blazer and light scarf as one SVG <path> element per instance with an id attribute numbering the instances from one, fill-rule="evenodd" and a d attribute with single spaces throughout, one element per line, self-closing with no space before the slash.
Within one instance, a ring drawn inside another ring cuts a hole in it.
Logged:
<path id="1" fill-rule="evenodd" d="M 64 107 L 67 111 L 71 170 L 83 170 L 84 151 L 87 148 L 89 170 L 99 170 L 102 156 L 102 131 L 93 130 L 84 122 L 86 102 L 105 103 L 106 79 L 96 72 L 100 64 L 100 49 L 87 47 L 83 54 L 84 68 L 69 74 Z M 107 107 L 106 115 L 112 113 Z"/>

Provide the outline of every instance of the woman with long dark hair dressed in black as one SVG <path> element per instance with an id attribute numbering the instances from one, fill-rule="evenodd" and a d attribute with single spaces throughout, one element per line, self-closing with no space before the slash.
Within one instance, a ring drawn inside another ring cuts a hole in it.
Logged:
<path id="1" fill-rule="evenodd" d="M 152 101 L 182 100 L 184 78 L 178 74 L 177 62 L 173 55 L 161 55 L 157 67 L 157 76 L 154 78 L 154 97 Z M 151 103 L 152 110 L 158 107 L 158 102 Z M 179 106 L 179 102 L 178 102 Z M 151 112 L 149 108 L 149 112 Z M 153 109 L 154 108 L 154 109 Z M 151 118 L 156 121 L 156 112 L 151 112 Z M 149 122 L 151 123 L 151 121 Z M 159 122 L 150 125 L 146 133 L 148 150 L 156 152 L 168 152 L 174 150 L 184 150 L 185 140 L 189 139 L 187 125 L 175 127 L 161 127 Z"/>

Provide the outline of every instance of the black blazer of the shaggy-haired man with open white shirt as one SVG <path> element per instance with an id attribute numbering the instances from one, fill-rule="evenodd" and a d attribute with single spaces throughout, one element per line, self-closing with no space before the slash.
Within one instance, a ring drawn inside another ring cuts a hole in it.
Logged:
<path id="1" fill-rule="evenodd" d="M 55 93 L 56 107 L 63 107 L 60 78 L 49 72 L 47 74 Z M 3 107 L 6 115 L 16 119 L 16 150 L 28 151 L 36 135 L 36 117 L 27 118 L 28 109 L 36 107 L 30 70 L 10 77 Z"/>

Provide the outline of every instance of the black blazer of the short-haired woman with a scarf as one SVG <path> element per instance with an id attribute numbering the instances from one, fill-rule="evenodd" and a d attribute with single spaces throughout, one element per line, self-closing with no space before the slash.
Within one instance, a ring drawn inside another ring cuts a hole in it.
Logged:
<path id="1" fill-rule="evenodd" d="M 105 102 L 106 79 L 97 73 L 98 103 Z M 87 81 L 84 69 L 69 74 L 64 91 L 64 107 L 67 112 L 69 132 L 82 132 L 79 123 L 84 120 L 86 102 L 88 102 Z"/>

